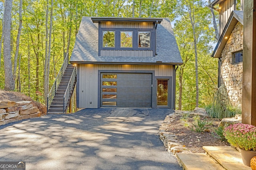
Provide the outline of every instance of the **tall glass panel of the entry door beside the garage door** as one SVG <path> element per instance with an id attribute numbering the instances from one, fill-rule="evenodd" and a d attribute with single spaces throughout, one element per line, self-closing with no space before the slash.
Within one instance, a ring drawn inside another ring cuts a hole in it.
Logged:
<path id="1" fill-rule="evenodd" d="M 168 106 L 168 80 L 157 80 L 157 106 Z"/>

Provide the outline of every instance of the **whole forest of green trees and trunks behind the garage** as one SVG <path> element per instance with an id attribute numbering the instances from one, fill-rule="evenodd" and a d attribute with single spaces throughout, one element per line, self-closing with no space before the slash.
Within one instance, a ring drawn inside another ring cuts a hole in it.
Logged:
<path id="1" fill-rule="evenodd" d="M 204 107 L 212 103 L 218 83 L 218 60 L 210 57 L 218 39 L 218 14 L 209 3 L 0 0 L 0 89 L 22 92 L 44 104 L 64 53 L 72 53 L 83 16 L 170 18 L 184 62 L 176 70 L 176 109 Z"/>

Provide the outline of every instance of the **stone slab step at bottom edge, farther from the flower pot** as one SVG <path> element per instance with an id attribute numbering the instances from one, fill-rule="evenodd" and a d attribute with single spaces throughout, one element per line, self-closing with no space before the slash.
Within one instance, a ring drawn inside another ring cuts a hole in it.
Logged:
<path id="1" fill-rule="evenodd" d="M 176 157 L 184 170 L 225 170 L 204 153 L 176 153 Z"/>

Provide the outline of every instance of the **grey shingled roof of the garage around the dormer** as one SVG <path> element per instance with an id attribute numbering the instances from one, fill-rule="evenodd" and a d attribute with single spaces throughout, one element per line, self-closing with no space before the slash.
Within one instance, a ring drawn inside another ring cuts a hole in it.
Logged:
<path id="1" fill-rule="evenodd" d="M 168 18 L 163 18 L 157 26 L 156 53 L 155 57 L 98 56 L 98 22 L 94 23 L 91 17 L 83 17 L 70 63 L 183 64 Z"/>

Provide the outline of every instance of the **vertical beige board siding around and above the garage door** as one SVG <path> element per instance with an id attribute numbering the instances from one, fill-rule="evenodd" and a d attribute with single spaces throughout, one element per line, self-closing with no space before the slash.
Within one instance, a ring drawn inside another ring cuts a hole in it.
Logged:
<path id="1" fill-rule="evenodd" d="M 173 77 L 173 65 L 142 64 L 79 64 L 78 65 L 78 107 L 98 108 L 98 70 L 154 71 L 153 76 Z M 170 92 L 172 93 L 172 92 Z"/>

